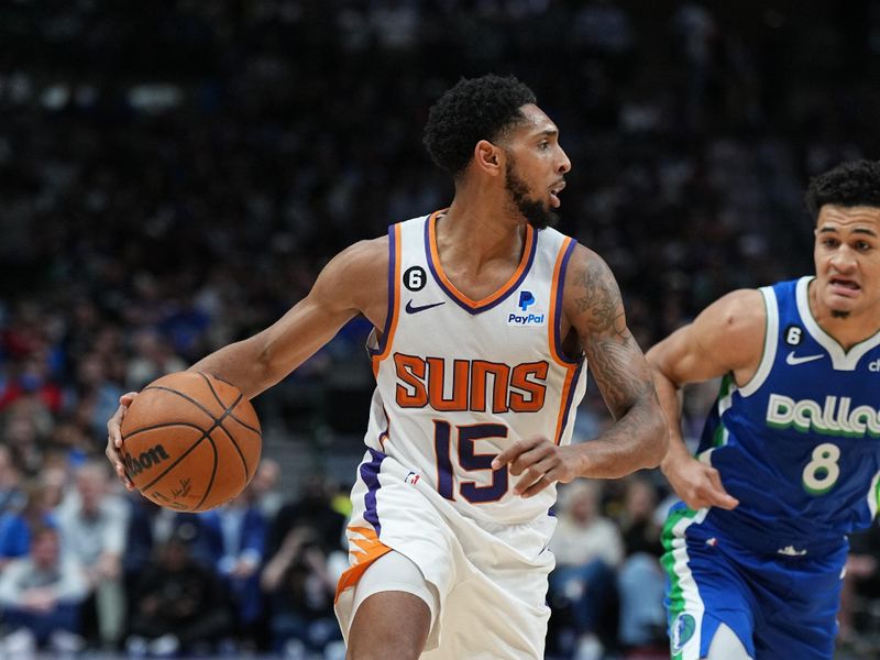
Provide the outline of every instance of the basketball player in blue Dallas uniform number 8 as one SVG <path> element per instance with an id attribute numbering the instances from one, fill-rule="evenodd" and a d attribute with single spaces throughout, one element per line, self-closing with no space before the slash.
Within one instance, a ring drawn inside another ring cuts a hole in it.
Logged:
<path id="1" fill-rule="evenodd" d="M 815 275 L 730 293 L 648 352 L 670 422 L 661 468 L 672 657 L 832 658 L 846 535 L 880 496 L 880 163 L 806 195 Z M 695 458 L 678 393 L 722 377 Z"/>

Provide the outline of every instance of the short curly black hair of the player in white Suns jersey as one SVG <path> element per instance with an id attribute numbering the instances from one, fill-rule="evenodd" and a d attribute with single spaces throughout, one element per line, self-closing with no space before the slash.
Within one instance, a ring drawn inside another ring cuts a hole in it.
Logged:
<path id="1" fill-rule="evenodd" d="M 462 78 L 431 107 L 425 143 L 431 160 L 453 177 L 471 162 L 481 140 L 493 142 L 522 119 L 535 92 L 514 76 Z"/>

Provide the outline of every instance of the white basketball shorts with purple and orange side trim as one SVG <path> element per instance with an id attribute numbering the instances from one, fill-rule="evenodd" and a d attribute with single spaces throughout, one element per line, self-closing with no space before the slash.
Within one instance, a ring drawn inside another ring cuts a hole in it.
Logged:
<path id="1" fill-rule="evenodd" d="M 345 639 L 355 609 L 352 587 L 373 561 L 396 550 L 418 566 L 439 601 L 425 660 L 543 658 L 554 518 L 524 525 L 465 518 L 409 469 L 373 450 L 358 474 L 346 531 L 352 565 L 336 605 Z"/>

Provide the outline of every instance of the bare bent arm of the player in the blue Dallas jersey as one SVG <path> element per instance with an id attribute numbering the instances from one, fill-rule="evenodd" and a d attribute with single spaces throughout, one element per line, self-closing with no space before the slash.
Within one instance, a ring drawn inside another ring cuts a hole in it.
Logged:
<path id="1" fill-rule="evenodd" d="M 669 451 L 660 468 L 670 485 L 692 509 L 732 509 L 739 502 L 725 491 L 718 471 L 691 457 L 681 430 L 680 391 L 733 373 L 738 384 L 758 369 L 765 338 L 766 311 L 757 289 L 727 294 L 694 321 L 648 351 L 657 394 L 669 424 Z"/>

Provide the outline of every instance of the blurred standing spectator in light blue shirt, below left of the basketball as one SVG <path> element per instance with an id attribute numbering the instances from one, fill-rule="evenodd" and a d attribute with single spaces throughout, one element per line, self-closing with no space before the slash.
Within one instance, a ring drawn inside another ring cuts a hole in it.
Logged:
<path id="1" fill-rule="evenodd" d="M 109 488 L 103 463 L 89 461 L 75 473 L 76 488 L 56 510 L 65 552 L 86 570 L 91 596 L 82 608 L 84 632 L 108 647 L 122 635 L 125 595 L 122 557 L 125 551 L 128 506 Z M 97 630 L 94 630 L 97 628 Z"/>

